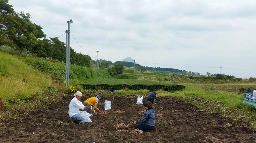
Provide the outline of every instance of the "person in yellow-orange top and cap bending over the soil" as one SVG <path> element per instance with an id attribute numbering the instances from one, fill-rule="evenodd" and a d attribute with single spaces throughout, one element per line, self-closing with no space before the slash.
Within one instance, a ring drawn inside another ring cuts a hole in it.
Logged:
<path id="1" fill-rule="evenodd" d="M 92 107 L 92 109 L 87 108 L 86 112 L 89 114 L 92 114 L 94 112 L 94 110 L 101 112 L 101 110 L 99 110 L 97 108 L 97 104 L 98 104 L 99 100 L 101 100 L 101 97 L 100 97 L 100 95 L 97 95 L 96 97 L 91 97 L 91 98 L 88 98 L 86 101 L 84 101 L 83 102 L 84 106 Z"/>

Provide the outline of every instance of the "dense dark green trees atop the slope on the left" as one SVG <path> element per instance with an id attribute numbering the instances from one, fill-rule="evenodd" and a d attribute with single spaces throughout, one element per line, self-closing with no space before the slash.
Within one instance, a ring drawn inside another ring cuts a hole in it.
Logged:
<path id="1" fill-rule="evenodd" d="M 8 0 L 0 0 L 0 46 L 7 45 L 18 51 L 28 51 L 38 57 L 66 62 L 66 44 L 58 37 L 42 39 L 42 27 L 30 21 L 29 13 L 16 13 Z M 70 47 L 70 63 L 90 66 L 88 55 L 76 53 Z"/>

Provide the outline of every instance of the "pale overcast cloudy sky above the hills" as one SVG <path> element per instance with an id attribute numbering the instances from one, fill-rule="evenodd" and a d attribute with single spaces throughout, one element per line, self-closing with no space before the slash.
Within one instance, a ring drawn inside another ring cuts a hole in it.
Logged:
<path id="1" fill-rule="evenodd" d="M 96 59 L 256 77 L 255 0 L 9 0 L 49 37 Z M 63 35 L 62 35 L 63 34 Z M 131 61 L 133 62 L 133 61 Z"/>

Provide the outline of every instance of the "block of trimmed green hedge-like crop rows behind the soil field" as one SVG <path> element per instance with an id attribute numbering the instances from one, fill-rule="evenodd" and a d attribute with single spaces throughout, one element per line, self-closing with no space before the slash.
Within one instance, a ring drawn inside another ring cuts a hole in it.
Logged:
<path id="1" fill-rule="evenodd" d="M 183 85 L 176 84 L 164 84 L 157 82 L 148 82 L 143 80 L 134 80 L 134 79 L 108 79 L 108 80 L 99 80 L 88 83 L 78 84 L 84 89 L 101 89 L 101 90 L 143 90 L 147 89 L 149 91 L 163 90 L 168 92 L 181 91 L 186 88 Z"/>

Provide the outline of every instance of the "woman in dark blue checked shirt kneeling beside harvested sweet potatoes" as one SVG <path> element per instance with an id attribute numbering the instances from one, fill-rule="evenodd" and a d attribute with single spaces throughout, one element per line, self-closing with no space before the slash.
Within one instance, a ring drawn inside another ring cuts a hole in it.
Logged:
<path id="1" fill-rule="evenodd" d="M 139 129 L 142 131 L 153 130 L 155 127 L 155 107 L 148 101 L 144 104 L 146 112 L 144 113 L 142 119 L 134 121 L 133 124 L 137 124 L 134 129 Z"/>

